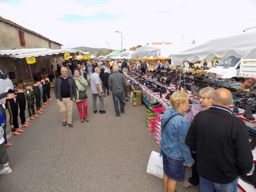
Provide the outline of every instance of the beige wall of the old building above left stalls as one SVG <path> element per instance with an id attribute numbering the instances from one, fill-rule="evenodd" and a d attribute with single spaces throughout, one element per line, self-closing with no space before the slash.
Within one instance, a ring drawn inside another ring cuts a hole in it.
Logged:
<path id="1" fill-rule="evenodd" d="M 21 30 L 23 31 L 23 30 Z M 13 48 L 50 48 L 49 41 L 32 33 L 24 32 L 26 46 L 21 46 L 18 35 L 18 28 L 11 24 L 0 21 L 0 50 Z M 51 42 L 52 49 L 61 49 L 61 45 Z"/>

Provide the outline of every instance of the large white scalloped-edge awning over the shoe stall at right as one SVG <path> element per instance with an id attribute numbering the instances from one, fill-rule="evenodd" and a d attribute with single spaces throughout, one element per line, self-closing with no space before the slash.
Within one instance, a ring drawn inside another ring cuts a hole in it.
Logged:
<path id="1" fill-rule="evenodd" d="M 239 35 L 217 38 L 170 57 L 171 65 L 180 65 L 183 61 L 194 63 L 198 60 L 229 56 L 237 58 L 256 57 L 256 31 L 246 31 Z"/>

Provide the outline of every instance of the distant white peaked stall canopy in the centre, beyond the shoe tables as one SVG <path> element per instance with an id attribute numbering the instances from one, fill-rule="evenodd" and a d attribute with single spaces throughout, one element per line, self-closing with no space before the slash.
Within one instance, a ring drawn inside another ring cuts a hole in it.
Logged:
<path id="1" fill-rule="evenodd" d="M 148 45 L 137 48 L 134 53 L 131 54 L 131 58 L 142 58 L 142 57 L 160 57 L 160 49 L 150 47 Z"/>

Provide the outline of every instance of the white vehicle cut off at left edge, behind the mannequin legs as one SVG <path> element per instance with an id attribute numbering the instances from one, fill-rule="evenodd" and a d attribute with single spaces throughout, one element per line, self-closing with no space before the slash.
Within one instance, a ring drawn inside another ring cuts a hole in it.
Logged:
<path id="1" fill-rule="evenodd" d="M 0 101 L 3 104 L 6 103 L 7 92 L 11 92 L 14 90 L 14 86 L 12 80 L 8 78 L 6 73 L 0 70 Z"/>

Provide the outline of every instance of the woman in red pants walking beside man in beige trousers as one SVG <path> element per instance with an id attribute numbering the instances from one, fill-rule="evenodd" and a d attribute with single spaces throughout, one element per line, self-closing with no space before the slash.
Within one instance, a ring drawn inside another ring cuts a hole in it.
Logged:
<path id="1" fill-rule="evenodd" d="M 88 122 L 89 120 L 87 116 L 87 107 L 88 107 L 87 94 L 86 94 L 86 97 L 81 98 L 81 95 L 82 95 L 81 92 L 86 91 L 86 86 L 88 85 L 88 82 L 87 80 L 85 80 L 83 76 L 80 76 L 78 69 L 74 70 L 73 79 L 76 82 L 77 98 L 75 102 L 78 109 L 78 113 L 80 115 L 80 120 L 81 122 L 85 122 L 85 121 Z"/>

